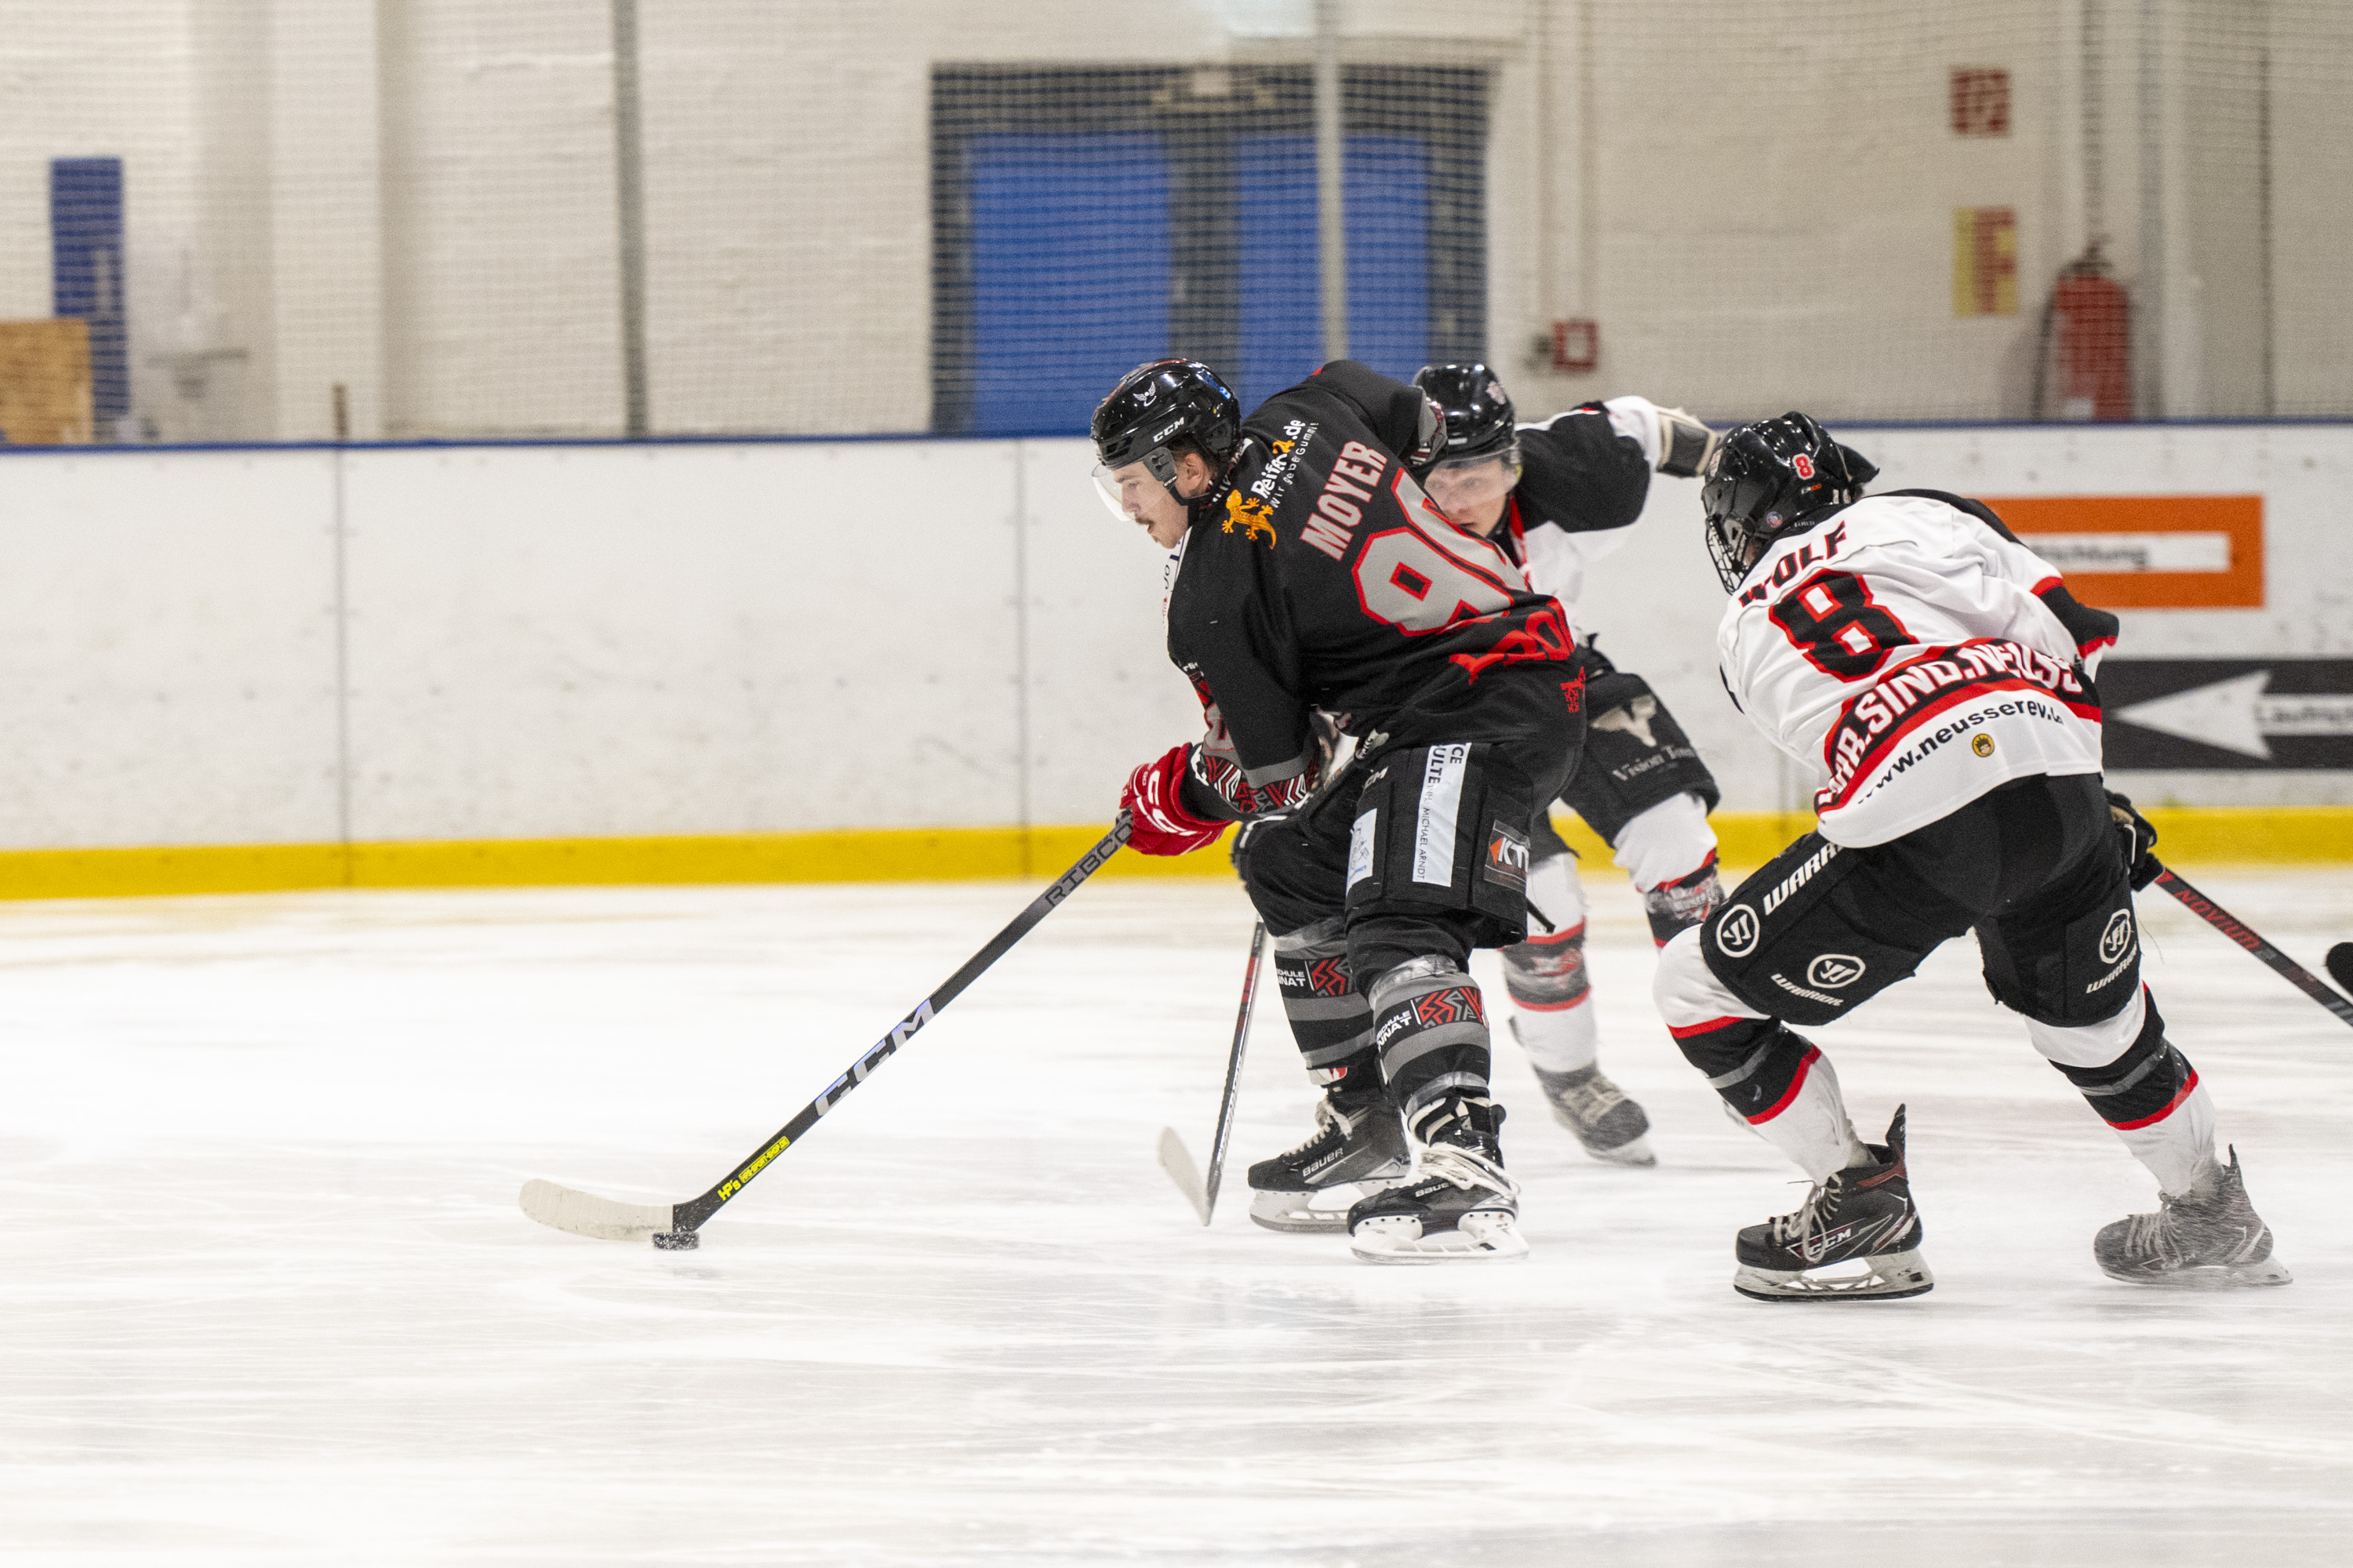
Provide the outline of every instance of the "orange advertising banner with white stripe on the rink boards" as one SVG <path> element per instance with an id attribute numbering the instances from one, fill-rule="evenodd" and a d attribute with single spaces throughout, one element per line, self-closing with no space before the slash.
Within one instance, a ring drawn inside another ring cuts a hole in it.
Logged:
<path id="1" fill-rule="evenodd" d="M 2264 609 L 2261 496 L 1986 498 L 2101 609 Z"/>

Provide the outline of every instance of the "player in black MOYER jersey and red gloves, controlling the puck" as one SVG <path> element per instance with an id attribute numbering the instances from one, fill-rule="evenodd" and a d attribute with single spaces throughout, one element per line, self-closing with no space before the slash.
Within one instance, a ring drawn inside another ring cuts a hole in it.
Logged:
<path id="1" fill-rule="evenodd" d="M 1584 738 L 1560 607 L 1409 473 L 1440 428 L 1346 360 L 1247 421 L 1188 360 L 1094 411 L 1106 498 L 1176 552 L 1167 646 L 1207 717 L 1129 778 L 1132 846 L 1242 823 L 1235 867 L 1322 1086 L 1318 1135 L 1252 1166 L 1252 1218 L 1346 1229 L 1367 1262 L 1527 1253 L 1466 961 L 1525 940 L 1529 813 Z M 1318 710 L 1358 738 L 1329 780 Z"/>

